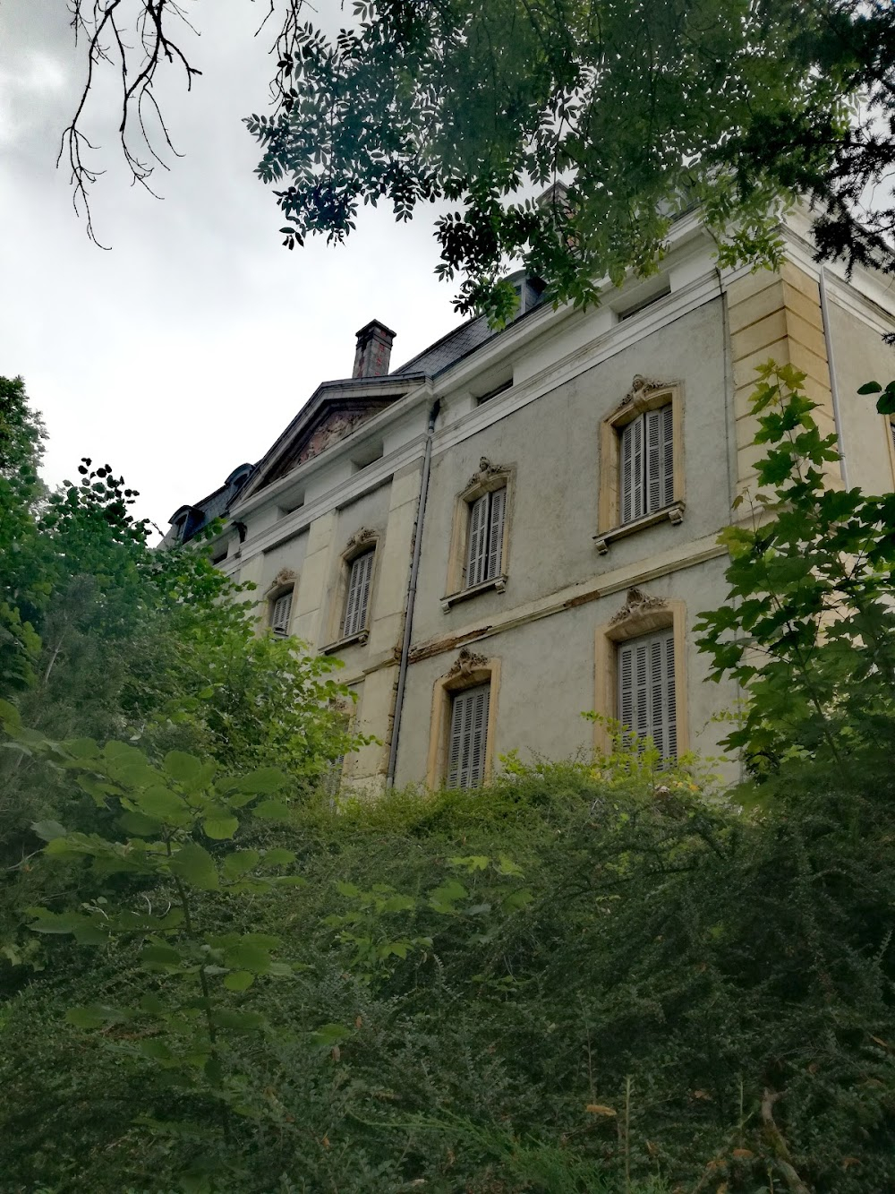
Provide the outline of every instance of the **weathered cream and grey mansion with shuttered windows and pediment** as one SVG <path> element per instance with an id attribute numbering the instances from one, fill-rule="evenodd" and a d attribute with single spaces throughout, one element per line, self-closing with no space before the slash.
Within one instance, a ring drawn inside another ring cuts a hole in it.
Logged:
<path id="1" fill-rule="evenodd" d="M 587 751 L 604 733 L 588 709 L 717 755 L 712 716 L 737 693 L 704 683 L 692 627 L 726 599 L 717 535 L 753 479 L 754 367 L 807 374 L 840 438 L 832 485 L 895 484 L 891 426 L 854 396 L 893 375 L 895 295 L 821 272 L 807 232 L 788 224 L 779 273 L 720 272 L 685 216 L 660 275 L 600 308 L 523 284 L 502 332 L 473 320 L 395 371 L 394 333 L 368 325 L 352 378 L 178 511 L 187 537 L 226 511 L 220 566 L 254 581 L 259 623 L 344 659 L 379 740 L 345 782 L 465 784 L 513 749 Z"/>

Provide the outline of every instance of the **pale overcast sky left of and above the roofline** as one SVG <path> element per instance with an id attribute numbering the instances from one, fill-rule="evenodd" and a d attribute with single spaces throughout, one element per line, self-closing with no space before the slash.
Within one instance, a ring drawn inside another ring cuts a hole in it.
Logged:
<path id="1" fill-rule="evenodd" d="M 116 152 L 110 78 L 90 110 L 103 252 L 55 168 L 84 69 L 66 0 L 0 0 L 0 374 L 21 374 L 44 417 L 50 484 L 81 456 L 110 463 L 162 529 L 257 460 L 321 381 L 351 375 L 363 324 L 397 332 L 400 364 L 458 321 L 432 272 L 431 208 L 409 227 L 368 210 L 342 247 L 280 246 L 240 123 L 266 111 L 267 38 L 252 35 L 267 0 L 184 6 L 204 73 L 191 94 L 173 75 L 160 93 L 185 154 L 153 177 L 162 202 L 130 185 Z M 339 0 L 316 8 L 344 19 Z"/>

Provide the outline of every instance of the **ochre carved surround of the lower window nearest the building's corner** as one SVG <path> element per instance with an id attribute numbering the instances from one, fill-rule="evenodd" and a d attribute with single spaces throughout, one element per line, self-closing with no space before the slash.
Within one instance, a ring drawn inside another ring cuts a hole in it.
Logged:
<path id="1" fill-rule="evenodd" d="M 641 589 L 629 589 L 624 605 L 609 622 L 597 627 L 594 644 L 594 712 L 618 720 L 617 647 L 629 639 L 671 629 L 674 635 L 674 703 L 677 707 L 678 756 L 690 750 L 686 683 L 686 605 L 681 601 L 649 597 Z M 605 722 L 594 721 L 594 747 L 612 747 Z"/>

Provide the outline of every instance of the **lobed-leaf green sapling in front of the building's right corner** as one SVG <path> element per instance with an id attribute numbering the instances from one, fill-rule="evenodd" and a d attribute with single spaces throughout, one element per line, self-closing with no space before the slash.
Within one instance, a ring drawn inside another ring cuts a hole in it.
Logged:
<path id="1" fill-rule="evenodd" d="M 895 494 L 831 485 L 837 437 L 820 433 L 804 374 L 772 362 L 759 374 L 752 408 L 766 455 L 752 524 L 724 533 L 730 599 L 697 626 L 714 677 L 732 675 L 748 693 L 727 745 L 759 771 L 788 753 L 885 770 L 895 724 Z M 882 390 L 864 389 L 874 386 Z M 888 400 L 887 390 L 881 408 Z"/>

